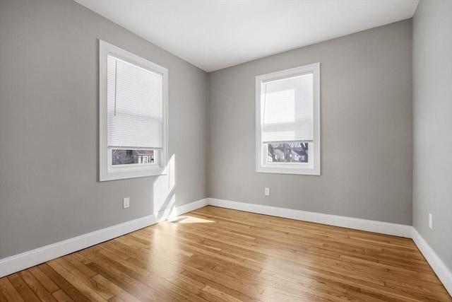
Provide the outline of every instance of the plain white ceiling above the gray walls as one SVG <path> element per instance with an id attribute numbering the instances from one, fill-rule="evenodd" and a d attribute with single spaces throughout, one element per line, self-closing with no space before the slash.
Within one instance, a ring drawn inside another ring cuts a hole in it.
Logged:
<path id="1" fill-rule="evenodd" d="M 411 18 L 419 0 L 75 0 L 205 71 Z"/>

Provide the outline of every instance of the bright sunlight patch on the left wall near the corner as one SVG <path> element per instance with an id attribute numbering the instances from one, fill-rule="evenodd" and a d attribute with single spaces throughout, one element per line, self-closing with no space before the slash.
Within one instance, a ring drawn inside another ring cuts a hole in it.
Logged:
<path id="1" fill-rule="evenodd" d="M 163 175 L 158 176 L 154 181 L 153 213 L 159 221 L 167 219 L 175 211 L 176 195 L 176 161 L 175 155 L 169 158 Z M 176 214 L 173 214 L 173 216 Z"/>

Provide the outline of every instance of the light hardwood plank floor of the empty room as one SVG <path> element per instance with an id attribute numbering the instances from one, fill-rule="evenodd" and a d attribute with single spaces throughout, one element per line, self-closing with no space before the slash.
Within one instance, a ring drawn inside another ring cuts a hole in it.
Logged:
<path id="1" fill-rule="evenodd" d="M 204 207 L 0 279 L 1 301 L 452 301 L 412 240 Z"/>

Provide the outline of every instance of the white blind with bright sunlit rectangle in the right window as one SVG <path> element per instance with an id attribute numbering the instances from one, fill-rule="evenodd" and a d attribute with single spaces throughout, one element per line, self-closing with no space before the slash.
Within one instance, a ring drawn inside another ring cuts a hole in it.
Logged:
<path id="1" fill-rule="evenodd" d="M 262 83 L 263 144 L 314 140 L 313 85 L 312 72 Z"/>

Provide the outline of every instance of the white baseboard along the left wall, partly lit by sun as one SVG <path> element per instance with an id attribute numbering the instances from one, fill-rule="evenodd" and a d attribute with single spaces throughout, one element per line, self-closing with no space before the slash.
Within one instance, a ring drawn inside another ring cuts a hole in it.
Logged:
<path id="1" fill-rule="evenodd" d="M 71 252 L 83 250 L 90 246 L 102 243 L 104 241 L 123 236 L 126 233 L 151 226 L 154 223 L 169 219 L 174 216 L 185 214 L 195 209 L 200 209 L 208 205 L 208 199 L 201 199 L 196 202 L 184 204 L 179 207 L 172 207 L 158 213 L 157 215 L 144 216 L 138 219 L 133 219 L 124 223 L 117 224 L 116 226 L 110 226 L 108 228 L 102 228 L 101 230 L 87 233 L 74 238 L 45 245 L 42 248 L 36 248 L 28 252 L 23 252 L 18 255 L 6 257 L 0 260 L 0 277 L 7 276 L 19 272 L 22 269 L 28 269 L 35 265 L 40 265 L 43 262 L 68 255 Z"/>

